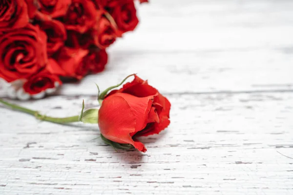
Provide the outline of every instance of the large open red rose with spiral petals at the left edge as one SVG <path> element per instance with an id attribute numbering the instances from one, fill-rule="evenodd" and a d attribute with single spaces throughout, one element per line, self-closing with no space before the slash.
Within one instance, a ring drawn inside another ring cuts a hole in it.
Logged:
<path id="1" fill-rule="evenodd" d="M 47 63 L 46 34 L 28 24 L 0 37 L 0 77 L 11 82 L 27 78 Z"/>

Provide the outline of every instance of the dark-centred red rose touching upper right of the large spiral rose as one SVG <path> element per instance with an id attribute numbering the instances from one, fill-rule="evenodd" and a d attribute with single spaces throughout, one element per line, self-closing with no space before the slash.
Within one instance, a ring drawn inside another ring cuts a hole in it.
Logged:
<path id="1" fill-rule="evenodd" d="M 52 56 L 63 47 L 64 41 L 67 39 L 66 30 L 63 23 L 58 20 L 52 20 L 48 17 L 42 19 L 44 20 L 38 24 L 47 35 L 47 54 Z"/>

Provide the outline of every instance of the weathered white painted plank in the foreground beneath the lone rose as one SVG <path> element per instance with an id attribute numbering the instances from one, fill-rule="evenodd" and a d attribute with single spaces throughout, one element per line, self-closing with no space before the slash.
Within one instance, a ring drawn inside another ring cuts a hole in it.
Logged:
<path id="1" fill-rule="evenodd" d="M 98 105 L 83 96 L 21 105 L 69 116 L 82 98 Z M 90 141 L 96 125 L 38 122 L 0 108 L 0 193 L 292 195 L 293 159 L 281 155 L 293 157 L 292 93 L 168 98 L 171 124 L 141 139 L 146 154 Z"/>

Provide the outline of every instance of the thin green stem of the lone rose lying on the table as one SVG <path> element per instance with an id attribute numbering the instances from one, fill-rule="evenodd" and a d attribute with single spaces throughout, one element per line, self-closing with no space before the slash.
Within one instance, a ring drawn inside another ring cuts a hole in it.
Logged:
<path id="1" fill-rule="evenodd" d="M 70 123 L 70 122 L 78 122 L 78 115 L 77 116 L 73 116 L 73 117 L 64 117 L 64 118 L 56 118 L 56 117 L 47 117 L 45 115 L 41 115 L 38 111 L 35 110 L 30 110 L 24 107 L 21 107 L 19 105 L 16 104 L 12 104 L 9 103 L 7 101 L 4 101 L 3 99 L 0 98 L 0 103 L 6 105 L 7 107 L 13 109 L 13 110 L 18 110 L 21 111 L 23 113 L 32 115 L 34 117 L 36 117 L 39 120 L 44 120 L 44 121 L 49 121 L 49 122 L 53 122 L 53 123 L 59 123 L 59 124 L 63 124 L 63 123 Z"/>

